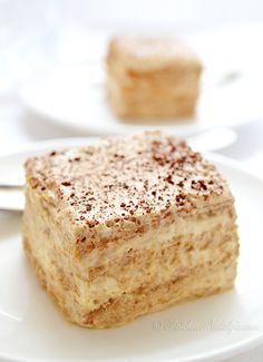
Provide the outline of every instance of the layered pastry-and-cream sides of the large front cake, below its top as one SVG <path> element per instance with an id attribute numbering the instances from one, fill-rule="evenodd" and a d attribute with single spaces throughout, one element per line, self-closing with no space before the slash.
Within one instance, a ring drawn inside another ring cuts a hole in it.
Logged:
<path id="1" fill-rule="evenodd" d="M 53 216 L 43 211 L 41 198 L 30 187 L 27 192 L 26 251 L 47 291 L 75 323 L 114 326 L 162 305 L 193 297 L 201 293 L 197 292 L 201 286 L 192 283 L 199 273 L 206 283 L 206 273 L 220 270 L 211 284 L 203 285 L 204 295 L 230 287 L 234 282 L 238 244 L 233 204 L 226 204 L 215 214 L 204 214 L 203 219 L 195 216 L 177 225 L 172 223 L 76 258 L 61 248 L 70 242 L 65 239 L 66 234 Z M 231 267 L 233 273 L 224 275 L 223 266 Z M 179 280 L 191 288 L 177 291 Z M 164 291 L 169 297 L 154 305 L 154 297 L 162 296 Z"/>

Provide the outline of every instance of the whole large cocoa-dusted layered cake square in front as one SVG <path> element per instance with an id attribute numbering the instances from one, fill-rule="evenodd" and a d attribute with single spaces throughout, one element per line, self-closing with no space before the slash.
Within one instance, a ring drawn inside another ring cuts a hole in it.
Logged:
<path id="1" fill-rule="evenodd" d="M 67 319 L 111 327 L 233 286 L 234 199 L 216 168 L 160 133 L 26 163 L 23 245 Z"/>

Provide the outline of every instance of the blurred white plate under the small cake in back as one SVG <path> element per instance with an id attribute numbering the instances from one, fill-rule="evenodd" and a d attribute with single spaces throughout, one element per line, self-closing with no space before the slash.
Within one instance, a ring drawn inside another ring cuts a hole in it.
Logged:
<path id="1" fill-rule="evenodd" d="M 156 126 L 136 126 L 136 121 L 121 124 L 106 99 L 101 53 L 106 51 L 107 37 L 97 39 L 101 42 L 99 59 L 91 57 L 82 65 L 61 66 L 46 71 L 22 88 L 21 99 L 29 109 L 52 123 L 90 135 L 124 134 L 158 127 L 186 136 L 211 127 L 233 127 L 262 115 L 259 76 L 249 77 L 240 62 L 245 58 L 244 46 L 243 52 L 233 51 L 235 37 L 231 37 L 231 32 L 193 35 L 187 39 L 205 65 L 195 121 L 189 119 L 181 125 L 160 121 Z"/>

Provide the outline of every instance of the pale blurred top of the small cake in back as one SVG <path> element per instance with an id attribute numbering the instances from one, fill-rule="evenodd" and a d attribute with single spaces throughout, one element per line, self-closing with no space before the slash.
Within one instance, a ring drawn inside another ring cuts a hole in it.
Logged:
<path id="1" fill-rule="evenodd" d="M 137 71 L 171 66 L 202 68 L 195 52 L 178 38 L 116 37 L 109 42 L 108 60 L 110 58 L 120 61 L 125 68 Z"/>

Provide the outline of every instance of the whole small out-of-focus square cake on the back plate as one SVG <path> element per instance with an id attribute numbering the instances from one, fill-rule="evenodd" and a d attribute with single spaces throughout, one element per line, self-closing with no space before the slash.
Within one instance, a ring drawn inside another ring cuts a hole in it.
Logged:
<path id="1" fill-rule="evenodd" d="M 117 116 L 194 116 L 202 63 L 181 40 L 117 37 L 109 43 L 106 63 L 108 98 Z"/>

